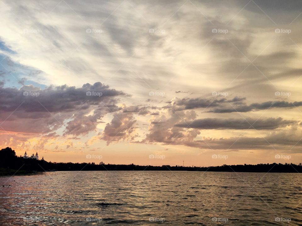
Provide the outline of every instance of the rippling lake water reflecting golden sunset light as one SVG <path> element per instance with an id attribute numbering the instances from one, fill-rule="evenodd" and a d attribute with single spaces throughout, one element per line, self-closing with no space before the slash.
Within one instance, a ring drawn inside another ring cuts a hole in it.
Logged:
<path id="1" fill-rule="evenodd" d="M 298 173 L 67 171 L 0 181 L 0 225 L 302 225 Z"/>

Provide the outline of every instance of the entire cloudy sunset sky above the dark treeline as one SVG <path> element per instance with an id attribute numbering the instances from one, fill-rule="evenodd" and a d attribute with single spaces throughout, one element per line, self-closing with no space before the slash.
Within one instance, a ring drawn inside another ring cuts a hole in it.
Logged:
<path id="1" fill-rule="evenodd" d="M 0 0 L 0 145 L 52 162 L 302 162 L 302 2 Z"/>

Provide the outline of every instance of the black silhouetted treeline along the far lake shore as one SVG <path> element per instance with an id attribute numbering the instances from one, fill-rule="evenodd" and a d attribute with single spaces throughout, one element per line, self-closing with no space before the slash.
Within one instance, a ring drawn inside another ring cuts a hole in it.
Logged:
<path id="1" fill-rule="evenodd" d="M 88 171 L 88 170 L 171 170 L 171 171 L 211 171 L 211 172 L 271 172 L 271 173 L 301 173 L 302 165 L 293 163 L 267 163 L 257 165 L 222 165 L 209 167 L 183 167 L 183 166 L 140 166 L 116 165 L 101 163 L 52 163 L 39 158 L 38 153 L 28 156 L 16 156 L 14 150 L 6 147 L 0 150 L 0 175 L 30 174 L 44 171 Z"/>

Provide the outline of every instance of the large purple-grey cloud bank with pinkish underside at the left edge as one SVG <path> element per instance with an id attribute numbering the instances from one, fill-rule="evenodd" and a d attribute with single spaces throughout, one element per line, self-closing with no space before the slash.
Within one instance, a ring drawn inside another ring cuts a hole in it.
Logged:
<path id="1" fill-rule="evenodd" d="M 120 110 L 117 96 L 127 95 L 100 82 L 43 90 L 33 85 L 0 87 L 0 119 L 4 130 L 25 133 L 53 132 L 69 119 L 64 134 L 80 135 L 95 130 L 104 114 Z"/>

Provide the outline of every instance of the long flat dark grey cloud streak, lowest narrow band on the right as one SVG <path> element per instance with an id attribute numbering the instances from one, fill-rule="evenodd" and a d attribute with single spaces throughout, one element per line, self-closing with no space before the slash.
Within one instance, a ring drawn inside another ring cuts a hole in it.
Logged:
<path id="1" fill-rule="evenodd" d="M 217 118 L 206 118 L 196 119 L 194 121 L 188 121 L 186 123 L 175 124 L 177 127 L 183 128 L 194 128 L 200 130 L 245 130 L 245 129 L 256 129 L 256 130 L 272 130 L 278 127 L 284 127 L 290 124 L 294 124 L 297 121 L 283 120 L 282 118 L 269 118 L 269 119 L 217 119 Z"/>

